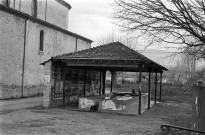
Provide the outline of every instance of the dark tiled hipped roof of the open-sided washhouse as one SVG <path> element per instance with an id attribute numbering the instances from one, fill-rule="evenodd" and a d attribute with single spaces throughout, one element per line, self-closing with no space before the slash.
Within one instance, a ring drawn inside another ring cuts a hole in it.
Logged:
<path id="1" fill-rule="evenodd" d="M 86 60 L 93 61 L 93 63 L 98 63 L 100 61 L 129 61 L 129 63 L 146 63 L 153 64 L 159 67 L 161 70 L 167 70 L 163 66 L 157 64 L 156 62 L 150 60 L 144 55 L 138 53 L 137 51 L 130 49 L 129 47 L 123 45 L 120 42 L 113 42 L 106 45 L 97 46 L 94 48 L 67 53 L 59 56 L 52 57 L 53 60 Z M 76 62 L 77 63 L 77 62 Z M 110 62 L 112 63 L 112 62 Z"/>

